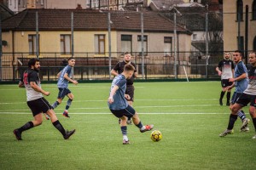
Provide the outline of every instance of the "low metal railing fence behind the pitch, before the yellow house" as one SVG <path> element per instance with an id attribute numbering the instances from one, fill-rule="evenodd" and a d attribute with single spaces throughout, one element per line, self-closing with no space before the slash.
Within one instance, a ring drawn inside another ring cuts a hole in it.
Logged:
<path id="1" fill-rule="evenodd" d="M 112 53 L 111 65 L 108 55 L 104 57 L 93 57 L 94 53 L 75 53 L 76 65 L 73 78 L 76 80 L 108 80 L 109 67 L 113 68 L 119 61 L 123 60 L 122 53 Z M 137 79 L 216 79 L 215 71 L 223 52 L 214 53 L 207 59 L 196 52 L 178 52 L 175 68 L 175 59 L 164 52 L 148 52 L 144 56 L 144 75 L 142 75 L 143 57 L 141 53 L 132 53 L 131 60 L 136 64 Z M 71 56 L 71 55 L 70 55 Z M 61 71 L 63 58 L 60 53 L 40 54 L 40 75 L 42 81 L 56 81 L 57 73 Z M 3 54 L 2 57 L 2 82 L 13 82 L 20 79 L 20 75 L 27 68 L 27 62 L 32 57 L 26 53 Z M 177 72 L 176 72 L 177 71 Z M 144 76 L 144 77 L 143 77 Z"/>

